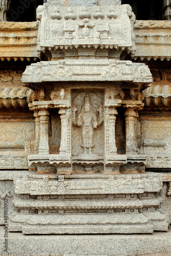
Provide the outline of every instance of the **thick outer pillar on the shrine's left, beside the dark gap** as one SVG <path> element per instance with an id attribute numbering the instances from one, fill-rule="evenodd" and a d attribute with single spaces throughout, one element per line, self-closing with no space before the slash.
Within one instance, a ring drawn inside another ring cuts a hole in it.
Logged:
<path id="1" fill-rule="evenodd" d="M 47 110 L 40 110 L 40 141 L 39 154 L 49 154 L 48 122 L 50 113 Z"/>

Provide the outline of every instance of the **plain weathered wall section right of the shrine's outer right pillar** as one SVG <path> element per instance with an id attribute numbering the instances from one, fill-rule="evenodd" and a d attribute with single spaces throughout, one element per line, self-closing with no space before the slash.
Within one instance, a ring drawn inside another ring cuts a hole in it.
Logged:
<path id="1" fill-rule="evenodd" d="M 167 98 L 164 99 L 167 100 Z M 153 102 L 155 103 L 157 100 L 153 100 Z M 162 102 L 164 103 L 164 100 Z M 154 107 L 152 106 L 152 108 Z M 169 168 L 170 114 L 165 112 L 161 116 L 159 112 L 156 112 L 153 114 L 152 120 L 150 115 L 144 113 L 140 115 L 140 120 L 143 131 L 143 151 L 148 156 L 148 168 Z"/>

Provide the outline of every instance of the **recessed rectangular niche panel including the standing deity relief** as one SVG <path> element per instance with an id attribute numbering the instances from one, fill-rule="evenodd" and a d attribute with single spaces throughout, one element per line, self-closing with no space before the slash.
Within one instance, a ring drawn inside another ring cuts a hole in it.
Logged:
<path id="1" fill-rule="evenodd" d="M 103 156 L 103 92 L 72 92 L 72 156 Z"/>

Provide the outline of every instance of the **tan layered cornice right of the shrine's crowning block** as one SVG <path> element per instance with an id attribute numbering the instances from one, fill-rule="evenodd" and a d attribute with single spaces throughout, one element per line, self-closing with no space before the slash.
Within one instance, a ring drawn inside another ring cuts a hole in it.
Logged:
<path id="1" fill-rule="evenodd" d="M 134 60 L 171 58 L 171 23 L 167 20 L 136 20 Z"/>

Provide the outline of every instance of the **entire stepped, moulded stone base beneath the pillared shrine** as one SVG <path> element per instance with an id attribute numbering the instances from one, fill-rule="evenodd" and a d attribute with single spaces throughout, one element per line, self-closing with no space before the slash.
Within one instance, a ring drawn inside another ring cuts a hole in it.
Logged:
<path id="1" fill-rule="evenodd" d="M 10 231 L 43 234 L 53 228 L 54 233 L 110 233 L 113 228 L 114 233 L 152 233 L 168 229 L 167 214 L 161 212 L 159 174 L 30 174 L 16 176 L 14 186 L 17 197 Z"/>

